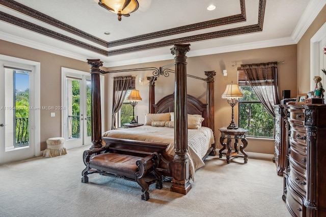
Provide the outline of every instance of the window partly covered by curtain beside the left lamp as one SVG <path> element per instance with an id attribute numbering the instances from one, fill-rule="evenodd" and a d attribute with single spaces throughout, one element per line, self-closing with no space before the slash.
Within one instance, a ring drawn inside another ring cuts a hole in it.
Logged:
<path id="1" fill-rule="evenodd" d="M 116 126 L 118 127 L 123 127 L 123 124 L 125 123 L 130 123 L 131 119 L 132 119 L 132 106 L 129 103 L 129 101 L 127 100 L 131 90 L 135 89 L 135 77 L 132 77 L 130 80 L 130 86 L 129 86 L 129 90 L 127 91 L 126 97 L 123 100 L 123 104 L 118 112 L 118 118 L 117 120 L 117 124 Z"/>

